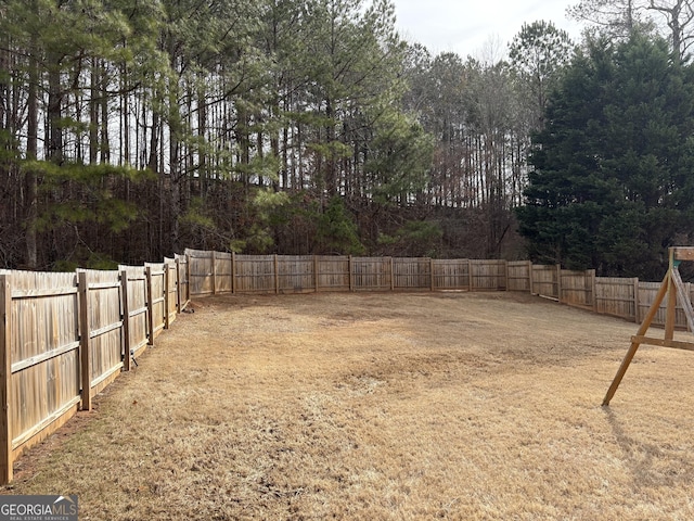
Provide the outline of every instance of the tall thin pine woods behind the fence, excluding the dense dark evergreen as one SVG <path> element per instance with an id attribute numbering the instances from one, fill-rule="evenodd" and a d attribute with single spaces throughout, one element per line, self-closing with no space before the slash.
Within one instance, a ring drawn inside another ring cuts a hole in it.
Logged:
<path id="1" fill-rule="evenodd" d="M 686 55 L 689 2 L 624 3 L 589 28 Z M 0 266 L 522 256 L 532 136 L 577 47 L 537 22 L 502 58 L 432 55 L 390 0 L 1 0 Z"/>

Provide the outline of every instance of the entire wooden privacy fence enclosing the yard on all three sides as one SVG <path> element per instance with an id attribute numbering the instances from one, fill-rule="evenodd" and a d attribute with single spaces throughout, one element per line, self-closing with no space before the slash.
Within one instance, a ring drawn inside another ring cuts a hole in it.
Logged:
<path id="1" fill-rule="evenodd" d="M 131 364 L 193 296 L 326 291 L 518 291 L 640 322 L 659 283 L 530 262 L 183 255 L 117 271 L 0 270 L 0 482 Z M 686 284 L 690 298 L 691 284 Z M 665 323 L 665 307 L 655 325 Z M 677 327 L 686 328 L 678 303 Z"/>

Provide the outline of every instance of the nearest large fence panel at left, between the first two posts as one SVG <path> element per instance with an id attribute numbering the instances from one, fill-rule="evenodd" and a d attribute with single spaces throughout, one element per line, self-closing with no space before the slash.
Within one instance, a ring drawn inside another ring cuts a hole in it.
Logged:
<path id="1" fill-rule="evenodd" d="M 67 421 L 81 402 L 79 296 L 76 274 L 12 271 L 0 282 L 8 404 L 0 479 L 9 482 L 15 457 Z"/>

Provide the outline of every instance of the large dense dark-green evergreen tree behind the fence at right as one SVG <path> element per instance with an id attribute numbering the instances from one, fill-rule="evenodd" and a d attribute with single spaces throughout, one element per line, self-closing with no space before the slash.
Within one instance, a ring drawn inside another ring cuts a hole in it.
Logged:
<path id="1" fill-rule="evenodd" d="M 534 259 L 658 279 L 692 231 L 692 68 L 665 40 L 589 41 L 550 99 L 518 208 Z"/>

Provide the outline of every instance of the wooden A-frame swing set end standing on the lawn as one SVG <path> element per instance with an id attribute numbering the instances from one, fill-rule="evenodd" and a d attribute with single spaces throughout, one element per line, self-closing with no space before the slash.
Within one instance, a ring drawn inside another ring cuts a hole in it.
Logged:
<path id="1" fill-rule="evenodd" d="M 686 295 L 684 292 L 684 284 L 682 283 L 680 272 L 678 270 L 678 265 L 682 260 L 694 260 L 694 247 L 678 246 L 669 249 L 668 272 L 665 275 L 663 283 L 658 289 L 658 293 L 656 294 L 653 304 L 648 308 L 648 313 L 646 313 L 646 316 L 643 318 L 643 322 L 641 322 L 639 331 L 634 336 L 631 338 L 631 346 L 629 347 L 629 351 L 627 351 L 627 355 L 621 361 L 621 365 L 617 370 L 617 374 L 615 374 L 612 385 L 609 385 L 609 389 L 607 390 L 607 394 L 605 394 L 605 398 L 603 399 L 602 404 L 603 406 L 609 405 L 609 402 L 617 392 L 617 387 L 621 383 L 621 379 L 627 372 L 627 369 L 629 368 L 629 365 L 631 364 L 631 360 L 633 359 L 641 344 L 694 351 L 694 343 L 673 340 L 678 294 L 680 295 L 681 302 L 686 303 L 684 304 L 684 313 L 686 315 L 687 322 L 690 323 L 690 329 L 692 329 L 692 327 L 694 326 L 694 313 L 692 313 L 692 306 L 689 301 L 689 295 Z M 667 303 L 665 316 L 665 338 L 663 340 L 648 338 L 645 334 L 648 331 L 648 328 L 651 327 L 651 323 L 653 322 L 653 319 L 658 313 L 660 304 L 666 298 L 666 296 Z"/>

